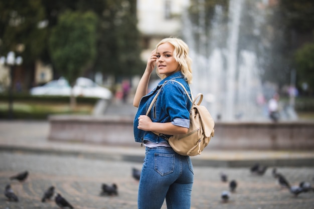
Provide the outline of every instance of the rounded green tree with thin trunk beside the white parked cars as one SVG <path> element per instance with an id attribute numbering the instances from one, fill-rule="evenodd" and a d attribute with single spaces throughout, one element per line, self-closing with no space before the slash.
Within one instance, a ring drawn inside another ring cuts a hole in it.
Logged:
<path id="1" fill-rule="evenodd" d="M 58 18 L 49 38 L 49 52 L 56 70 L 71 87 L 92 66 L 96 56 L 97 16 L 93 12 L 66 11 Z M 75 98 L 71 94 L 71 107 Z"/>

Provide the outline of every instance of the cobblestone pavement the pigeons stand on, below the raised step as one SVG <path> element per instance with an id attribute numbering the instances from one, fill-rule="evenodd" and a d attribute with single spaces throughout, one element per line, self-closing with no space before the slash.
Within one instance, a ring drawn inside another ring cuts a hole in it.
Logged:
<path id="1" fill-rule="evenodd" d="M 131 177 L 131 168 L 141 163 L 108 161 L 77 156 L 59 156 L 23 152 L 0 152 L 0 188 L 11 183 L 19 196 L 19 202 L 9 202 L 0 196 L 0 208 L 4 209 L 57 209 L 53 200 L 40 201 L 44 190 L 54 185 L 75 208 L 81 209 L 132 209 L 137 208 L 138 182 Z M 226 168 L 195 166 L 192 192 L 192 209 L 241 208 L 241 209 L 295 209 L 314 208 L 314 192 L 294 197 L 286 189 L 280 189 L 271 175 L 271 167 L 265 175 L 253 176 L 248 167 Z M 9 177 L 29 170 L 28 179 L 20 183 Z M 292 185 L 302 180 L 314 184 L 314 167 L 277 167 Z M 229 202 L 223 203 L 220 194 L 228 190 L 228 183 L 220 181 L 220 172 L 228 174 L 229 180 L 238 182 L 236 192 Z M 118 196 L 99 196 L 102 183 L 116 183 Z M 163 209 L 166 208 L 164 204 Z"/>

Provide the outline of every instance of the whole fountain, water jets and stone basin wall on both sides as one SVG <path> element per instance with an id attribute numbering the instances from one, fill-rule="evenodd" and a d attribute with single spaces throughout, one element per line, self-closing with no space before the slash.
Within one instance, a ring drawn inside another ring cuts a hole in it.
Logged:
<path id="1" fill-rule="evenodd" d="M 264 14 L 255 7 L 258 2 L 230 0 L 229 9 L 216 5 L 208 21 L 205 1 L 199 0 L 197 24 L 188 13 L 183 16 L 183 39 L 193 59 L 192 91 L 205 95 L 202 105 L 215 120 L 215 136 L 206 150 L 313 149 L 314 123 L 273 123 L 263 114 L 265 104 L 256 102 L 265 95 L 258 66 L 263 59 L 258 37 Z M 51 116 L 49 139 L 136 147 L 132 122 L 133 118 L 111 115 Z"/>

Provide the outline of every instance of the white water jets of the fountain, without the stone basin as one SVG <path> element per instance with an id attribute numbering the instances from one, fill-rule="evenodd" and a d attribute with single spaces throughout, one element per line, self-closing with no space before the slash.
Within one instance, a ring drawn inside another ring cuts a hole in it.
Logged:
<path id="1" fill-rule="evenodd" d="M 230 0 L 226 24 L 223 6 L 216 5 L 213 18 L 208 21 L 204 3 L 204 0 L 199 1 L 198 25 L 195 26 L 187 15 L 183 18 L 183 36 L 190 46 L 193 80 L 197 81 L 192 84 L 193 92 L 205 95 L 205 105 L 216 119 L 267 120 L 263 107 L 256 105 L 257 97 L 262 95 L 260 69 L 254 51 L 257 44 L 240 40 L 248 30 L 258 35 L 262 12 L 244 8 L 245 0 Z M 244 17 L 255 23 L 253 28 L 243 30 Z"/>

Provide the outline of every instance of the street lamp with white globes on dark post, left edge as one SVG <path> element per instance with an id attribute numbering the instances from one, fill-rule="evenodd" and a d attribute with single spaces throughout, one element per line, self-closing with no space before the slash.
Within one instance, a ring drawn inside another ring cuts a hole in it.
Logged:
<path id="1" fill-rule="evenodd" d="M 10 67 L 10 86 L 9 86 L 9 119 L 13 118 L 13 70 L 15 65 L 21 65 L 23 63 L 23 58 L 21 56 L 15 57 L 14 52 L 9 52 L 7 58 L 1 57 L 0 63 L 7 64 Z"/>

